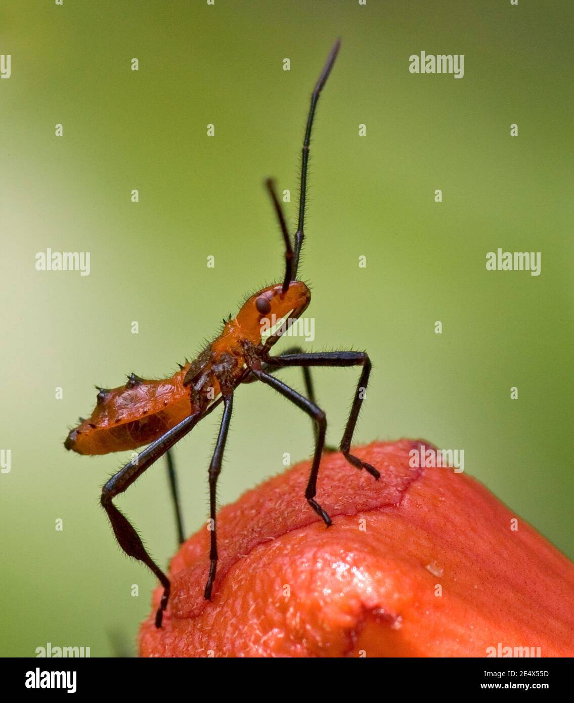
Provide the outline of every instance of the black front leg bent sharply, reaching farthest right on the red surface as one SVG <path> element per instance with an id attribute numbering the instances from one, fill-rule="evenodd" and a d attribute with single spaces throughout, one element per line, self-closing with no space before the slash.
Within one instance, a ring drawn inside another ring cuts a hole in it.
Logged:
<path id="1" fill-rule="evenodd" d="M 267 363 L 280 368 L 281 366 L 363 366 L 357 390 L 353 398 L 351 413 L 348 416 L 347 424 L 341 445 L 341 453 L 353 466 L 358 469 L 366 469 L 377 480 L 380 474 L 374 466 L 351 454 L 351 440 L 357 424 L 360 406 L 363 403 L 367 383 L 371 373 L 371 361 L 366 352 L 318 352 L 310 354 L 289 354 L 285 356 L 269 356 Z"/>

